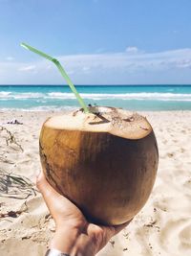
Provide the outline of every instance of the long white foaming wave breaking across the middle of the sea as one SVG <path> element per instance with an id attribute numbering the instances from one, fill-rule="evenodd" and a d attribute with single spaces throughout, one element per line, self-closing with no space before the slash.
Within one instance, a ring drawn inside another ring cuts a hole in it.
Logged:
<path id="1" fill-rule="evenodd" d="M 80 93 L 83 99 L 92 101 L 101 100 L 156 100 L 156 101 L 182 101 L 191 102 L 191 94 L 180 93 L 152 93 L 152 92 L 140 92 L 140 93 Z M 75 100 L 74 93 L 13 93 L 13 92 L 0 92 L 0 100 L 36 100 L 36 101 L 48 101 L 48 100 Z"/>

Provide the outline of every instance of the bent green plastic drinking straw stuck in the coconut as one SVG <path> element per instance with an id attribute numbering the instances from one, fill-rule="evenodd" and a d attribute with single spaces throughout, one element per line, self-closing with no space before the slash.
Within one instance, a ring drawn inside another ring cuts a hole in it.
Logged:
<path id="1" fill-rule="evenodd" d="M 37 54 L 37 55 L 39 55 L 39 56 L 41 56 L 43 58 L 47 58 L 47 59 L 51 60 L 56 65 L 58 70 L 60 71 L 62 77 L 68 82 L 71 90 L 74 92 L 74 95 L 75 95 L 77 101 L 79 102 L 79 105 L 81 105 L 81 107 L 84 109 L 84 112 L 85 113 L 89 113 L 90 112 L 88 107 L 85 105 L 83 99 L 78 94 L 77 90 L 75 89 L 73 82 L 71 81 L 69 76 L 66 74 L 64 68 L 62 67 L 62 65 L 60 64 L 60 62 L 56 58 L 53 58 L 53 57 L 51 57 L 49 55 L 46 55 L 45 53 L 42 53 L 41 51 L 38 51 L 37 49 L 33 48 L 32 46 L 30 46 L 30 45 L 28 45 L 26 43 L 21 43 L 20 45 L 22 47 L 24 47 L 25 49 L 30 50 L 33 53 L 35 53 L 35 54 Z"/>

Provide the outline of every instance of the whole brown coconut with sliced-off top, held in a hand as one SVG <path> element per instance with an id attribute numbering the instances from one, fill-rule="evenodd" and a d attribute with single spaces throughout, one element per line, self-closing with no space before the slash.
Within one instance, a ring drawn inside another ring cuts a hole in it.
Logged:
<path id="1" fill-rule="evenodd" d="M 49 118 L 40 134 L 47 180 L 90 221 L 130 221 L 152 191 L 159 161 L 146 118 L 115 107 L 90 107 Z"/>

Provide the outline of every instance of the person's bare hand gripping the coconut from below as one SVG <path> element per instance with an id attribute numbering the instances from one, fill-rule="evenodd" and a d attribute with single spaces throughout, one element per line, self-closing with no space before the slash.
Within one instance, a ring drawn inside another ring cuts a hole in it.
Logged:
<path id="1" fill-rule="evenodd" d="M 37 176 L 36 186 L 55 221 L 55 234 L 51 248 L 71 256 L 96 255 L 111 237 L 130 222 L 118 226 L 103 226 L 88 222 L 72 201 L 53 189 L 43 172 Z"/>

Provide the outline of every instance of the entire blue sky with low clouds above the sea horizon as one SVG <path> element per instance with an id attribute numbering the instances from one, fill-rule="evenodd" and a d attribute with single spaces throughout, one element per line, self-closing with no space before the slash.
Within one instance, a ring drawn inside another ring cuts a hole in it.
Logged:
<path id="1" fill-rule="evenodd" d="M 191 83 L 190 0 L 0 0 L 0 84 Z"/>

